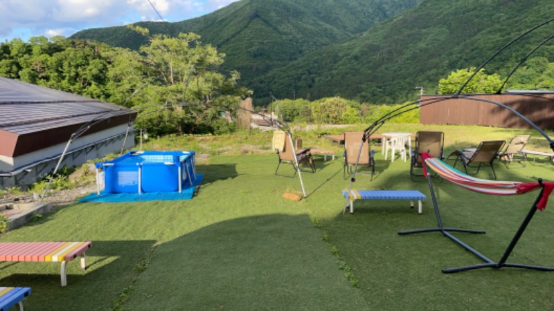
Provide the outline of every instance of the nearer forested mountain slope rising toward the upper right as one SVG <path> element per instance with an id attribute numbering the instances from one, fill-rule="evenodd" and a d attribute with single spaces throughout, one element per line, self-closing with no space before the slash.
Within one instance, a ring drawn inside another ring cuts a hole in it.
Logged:
<path id="1" fill-rule="evenodd" d="M 480 66 L 553 15 L 551 0 L 424 0 L 346 42 L 276 68 L 253 85 L 278 98 L 290 98 L 294 92 L 312 100 L 328 96 L 372 103 L 415 100 L 416 86 L 434 93 L 438 80 L 452 70 Z M 526 53 L 553 33 L 554 22 L 532 32 L 495 57 L 485 73 L 507 77 Z M 554 62 L 552 40 L 535 56 Z"/>

